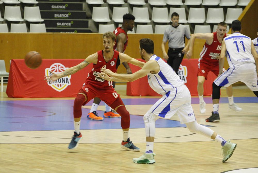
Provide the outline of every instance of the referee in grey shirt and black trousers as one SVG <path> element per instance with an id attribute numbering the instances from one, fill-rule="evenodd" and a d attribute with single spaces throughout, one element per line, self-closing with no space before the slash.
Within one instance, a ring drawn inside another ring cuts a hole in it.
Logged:
<path id="1" fill-rule="evenodd" d="M 164 59 L 172 67 L 172 69 L 178 75 L 179 66 L 183 60 L 184 54 L 189 47 L 190 33 L 184 25 L 180 25 L 179 14 L 174 12 L 171 15 L 172 25 L 168 26 L 164 32 L 163 42 L 161 49 L 163 52 Z M 185 47 L 184 37 L 187 37 L 188 44 Z M 165 44 L 168 40 L 168 52 L 165 51 Z"/>

